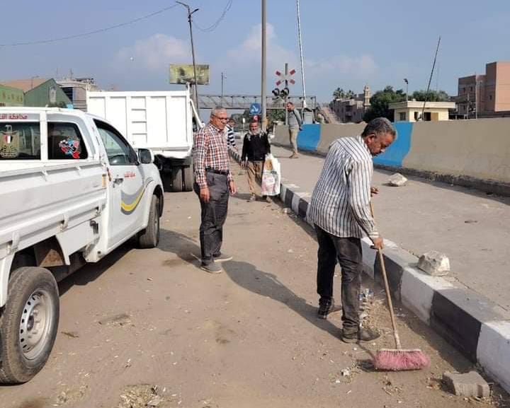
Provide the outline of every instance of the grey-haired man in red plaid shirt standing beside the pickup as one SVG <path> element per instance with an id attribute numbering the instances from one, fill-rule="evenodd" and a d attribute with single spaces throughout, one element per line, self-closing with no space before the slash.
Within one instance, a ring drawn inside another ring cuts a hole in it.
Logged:
<path id="1" fill-rule="evenodd" d="M 212 110 L 210 121 L 195 134 L 193 144 L 194 189 L 200 198 L 201 269 L 219 274 L 218 262 L 232 260 L 221 252 L 223 224 L 227 218 L 229 193 L 236 193 L 225 139 L 227 111 L 223 107 Z"/>

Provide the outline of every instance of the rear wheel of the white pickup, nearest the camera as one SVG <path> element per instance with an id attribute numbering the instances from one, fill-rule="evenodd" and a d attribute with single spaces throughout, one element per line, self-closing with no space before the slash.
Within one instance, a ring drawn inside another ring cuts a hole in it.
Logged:
<path id="1" fill-rule="evenodd" d="M 59 313 L 57 281 L 49 270 L 21 267 L 12 272 L 0 316 L 0 383 L 26 383 L 45 366 Z"/>

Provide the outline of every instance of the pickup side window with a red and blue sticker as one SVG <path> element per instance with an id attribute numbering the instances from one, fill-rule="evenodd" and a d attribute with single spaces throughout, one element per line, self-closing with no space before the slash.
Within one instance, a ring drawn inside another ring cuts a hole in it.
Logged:
<path id="1" fill-rule="evenodd" d="M 50 160 L 77 160 L 89 154 L 77 124 L 48 123 L 48 158 Z"/>

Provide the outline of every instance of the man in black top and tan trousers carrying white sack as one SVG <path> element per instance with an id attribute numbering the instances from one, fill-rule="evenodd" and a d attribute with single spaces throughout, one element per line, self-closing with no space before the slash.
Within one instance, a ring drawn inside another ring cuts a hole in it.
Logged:
<path id="1" fill-rule="evenodd" d="M 251 193 L 249 202 L 256 200 L 256 177 L 261 177 L 266 154 L 271 153 L 268 136 L 261 132 L 259 122 L 249 124 L 249 132 L 244 135 L 241 165 L 248 168 L 248 187 Z M 268 197 L 262 197 L 268 200 Z"/>

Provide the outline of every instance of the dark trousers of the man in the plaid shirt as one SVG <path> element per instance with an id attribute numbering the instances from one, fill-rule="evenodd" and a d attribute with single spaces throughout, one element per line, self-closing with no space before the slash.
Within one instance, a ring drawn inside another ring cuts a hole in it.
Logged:
<path id="1" fill-rule="evenodd" d="M 227 218 L 229 186 L 226 175 L 207 172 L 210 199 L 200 200 L 200 250 L 202 263 L 210 264 L 220 255 L 223 242 L 223 224 Z M 194 190 L 200 197 L 200 187 L 195 183 Z"/>

